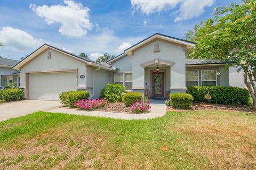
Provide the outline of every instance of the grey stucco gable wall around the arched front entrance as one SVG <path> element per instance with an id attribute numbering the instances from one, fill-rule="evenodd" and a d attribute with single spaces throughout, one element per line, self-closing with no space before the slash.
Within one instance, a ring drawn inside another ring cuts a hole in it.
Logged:
<path id="1" fill-rule="evenodd" d="M 159 44 L 160 52 L 154 53 L 154 45 Z M 133 87 L 145 87 L 145 69 L 140 65 L 147 61 L 161 59 L 174 62 L 171 66 L 170 87 L 185 87 L 185 51 L 183 47 L 156 40 L 134 52 L 132 56 Z"/>

